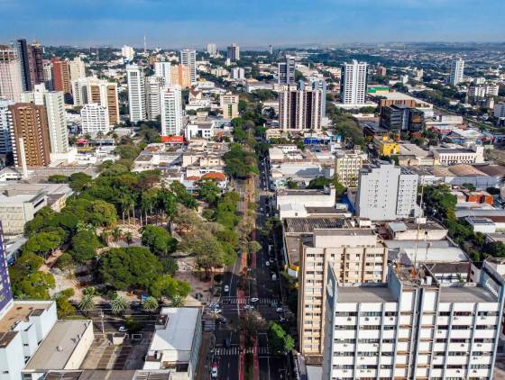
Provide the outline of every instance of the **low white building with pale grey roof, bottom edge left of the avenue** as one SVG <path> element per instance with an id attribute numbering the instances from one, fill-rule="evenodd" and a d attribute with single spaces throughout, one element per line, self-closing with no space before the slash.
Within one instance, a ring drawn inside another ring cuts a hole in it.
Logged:
<path id="1" fill-rule="evenodd" d="M 164 307 L 154 328 L 143 369 L 173 368 L 178 379 L 196 378 L 202 341 L 201 309 Z"/>

